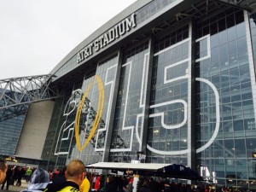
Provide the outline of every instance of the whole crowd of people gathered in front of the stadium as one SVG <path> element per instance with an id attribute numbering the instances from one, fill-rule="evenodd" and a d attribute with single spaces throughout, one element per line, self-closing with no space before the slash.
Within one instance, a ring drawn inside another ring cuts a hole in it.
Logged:
<path id="1" fill-rule="evenodd" d="M 72 160 L 61 170 L 47 172 L 41 168 L 7 166 L 0 159 L 0 185 L 2 190 L 6 184 L 20 185 L 21 178 L 28 182 L 27 189 L 21 192 L 132 192 L 134 178 L 132 176 L 98 175 L 85 172 L 81 160 Z M 182 184 L 169 180 L 154 180 L 153 177 L 140 177 L 136 184 L 137 192 L 235 192 L 242 190 L 214 188 L 206 184 Z"/>

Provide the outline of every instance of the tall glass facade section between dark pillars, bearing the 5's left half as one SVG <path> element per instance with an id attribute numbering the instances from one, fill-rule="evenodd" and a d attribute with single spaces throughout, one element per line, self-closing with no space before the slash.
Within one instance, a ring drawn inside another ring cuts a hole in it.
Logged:
<path id="1" fill-rule="evenodd" d="M 147 161 L 189 165 L 189 25 L 154 46 L 149 101 Z"/>

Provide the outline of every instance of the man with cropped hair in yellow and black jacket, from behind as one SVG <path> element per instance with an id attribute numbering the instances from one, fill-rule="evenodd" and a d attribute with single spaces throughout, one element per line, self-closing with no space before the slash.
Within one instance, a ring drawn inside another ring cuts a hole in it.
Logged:
<path id="1" fill-rule="evenodd" d="M 64 183 L 49 183 L 44 192 L 80 192 L 79 185 L 85 177 L 84 163 L 81 160 L 72 160 L 65 172 L 67 181 Z"/>

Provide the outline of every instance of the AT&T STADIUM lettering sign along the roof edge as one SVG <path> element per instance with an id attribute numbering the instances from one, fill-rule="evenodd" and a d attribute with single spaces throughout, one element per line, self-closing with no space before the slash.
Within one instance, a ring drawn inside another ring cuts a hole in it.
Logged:
<path id="1" fill-rule="evenodd" d="M 108 32 L 102 34 L 102 36 L 96 38 L 93 42 L 86 45 L 84 49 L 81 49 L 77 55 L 77 62 L 84 61 L 93 53 L 99 51 L 100 49 L 106 47 L 108 44 L 112 43 L 115 39 L 120 36 L 125 35 L 129 32 L 131 28 L 136 27 L 135 14 L 133 13 L 125 20 L 120 21 L 117 25 L 113 26 Z"/>

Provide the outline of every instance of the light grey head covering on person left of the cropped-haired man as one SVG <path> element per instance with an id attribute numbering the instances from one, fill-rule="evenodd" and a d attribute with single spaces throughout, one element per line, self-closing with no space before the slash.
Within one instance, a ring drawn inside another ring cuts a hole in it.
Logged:
<path id="1" fill-rule="evenodd" d="M 30 179 L 30 184 L 27 186 L 28 190 L 45 189 L 49 183 L 49 173 L 44 169 L 37 168 Z"/>

